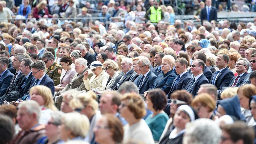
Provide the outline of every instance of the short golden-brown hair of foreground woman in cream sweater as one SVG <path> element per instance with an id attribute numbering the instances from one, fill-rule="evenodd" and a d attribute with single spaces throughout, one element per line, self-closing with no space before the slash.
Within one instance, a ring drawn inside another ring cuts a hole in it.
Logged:
<path id="1" fill-rule="evenodd" d="M 136 119 L 141 119 L 146 115 L 145 104 L 138 94 L 127 93 L 124 94 L 122 101 L 128 101 L 127 107 L 134 114 Z"/>

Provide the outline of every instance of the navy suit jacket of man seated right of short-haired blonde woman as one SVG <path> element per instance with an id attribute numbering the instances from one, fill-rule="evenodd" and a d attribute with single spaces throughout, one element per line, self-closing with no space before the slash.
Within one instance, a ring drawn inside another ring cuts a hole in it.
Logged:
<path id="1" fill-rule="evenodd" d="M 176 82 L 178 77 L 176 77 L 173 81 L 172 87 L 170 92 L 166 95 L 167 98 L 169 99 L 171 97 L 171 93 L 174 92 L 175 90 L 182 90 L 186 88 L 186 85 L 188 83 L 188 81 L 192 78 L 188 72 L 186 72 L 185 74 L 182 75 L 181 78 L 179 78 L 178 83 L 174 86 L 174 83 Z"/>

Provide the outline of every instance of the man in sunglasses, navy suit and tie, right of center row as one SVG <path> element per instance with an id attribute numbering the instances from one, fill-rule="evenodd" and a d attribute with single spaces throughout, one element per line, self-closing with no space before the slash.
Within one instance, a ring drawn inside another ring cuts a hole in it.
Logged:
<path id="1" fill-rule="evenodd" d="M 188 81 L 185 90 L 190 92 L 193 97 L 197 95 L 197 92 L 202 84 L 209 83 L 208 79 L 203 74 L 204 68 L 204 62 L 200 59 L 195 59 L 190 67 L 191 73 L 194 74 L 195 77 Z"/>

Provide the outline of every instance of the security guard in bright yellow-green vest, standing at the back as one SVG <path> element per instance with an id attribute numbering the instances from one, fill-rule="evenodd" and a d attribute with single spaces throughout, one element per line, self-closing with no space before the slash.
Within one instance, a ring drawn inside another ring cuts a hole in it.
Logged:
<path id="1" fill-rule="evenodd" d="M 145 18 L 149 19 L 151 23 L 158 23 L 164 18 L 164 13 L 159 6 L 159 0 L 154 0 L 154 6 L 147 10 Z"/>

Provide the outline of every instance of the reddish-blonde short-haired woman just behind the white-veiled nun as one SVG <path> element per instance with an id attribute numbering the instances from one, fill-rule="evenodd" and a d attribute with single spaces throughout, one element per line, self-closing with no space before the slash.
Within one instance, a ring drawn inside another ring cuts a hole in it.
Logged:
<path id="1" fill-rule="evenodd" d="M 214 114 L 216 102 L 209 94 L 198 94 L 191 103 L 191 106 L 197 110 L 199 118 L 210 118 L 215 121 L 218 117 Z"/>

